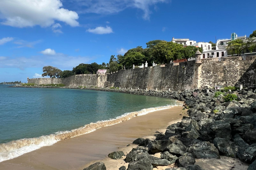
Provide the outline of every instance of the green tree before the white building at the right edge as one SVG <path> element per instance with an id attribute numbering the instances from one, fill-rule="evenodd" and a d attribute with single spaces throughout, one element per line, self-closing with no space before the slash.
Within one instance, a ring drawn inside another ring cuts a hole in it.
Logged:
<path id="1" fill-rule="evenodd" d="M 252 38 L 246 39 L 244 41 L 236 39 L 228 42 L 227 44 L 228 53 L 232 55 L 237 54 L 237 56 L 240 56 L 244 49 L 248 49 L 252 52 L 252 50 L 256 47 L 256 40 Z"/>

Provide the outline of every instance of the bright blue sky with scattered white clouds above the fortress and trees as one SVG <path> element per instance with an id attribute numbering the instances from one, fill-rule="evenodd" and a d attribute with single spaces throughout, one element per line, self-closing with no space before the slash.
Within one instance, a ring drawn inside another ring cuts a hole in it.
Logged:
<path id="1" fill-rule="evenodd" d="M 151 40 L 215 42 L 256 30 L 255 0 L 0 0 L 0 82 L 108 62 Z"/>

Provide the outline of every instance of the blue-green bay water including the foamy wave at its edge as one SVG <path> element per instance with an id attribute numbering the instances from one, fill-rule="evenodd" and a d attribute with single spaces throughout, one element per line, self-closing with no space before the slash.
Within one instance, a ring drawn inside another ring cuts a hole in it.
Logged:
<path id="1" fill-rule="evenodd" d="M 8 86 L 0 85 L 0 162 L 177 105 L 170 99 L 124 93 Z"/>

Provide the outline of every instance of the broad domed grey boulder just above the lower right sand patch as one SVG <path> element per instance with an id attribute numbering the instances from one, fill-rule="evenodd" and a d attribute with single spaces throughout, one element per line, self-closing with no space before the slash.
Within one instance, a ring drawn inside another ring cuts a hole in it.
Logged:
<path id="1" fill-rule="evenodd" d="M 210 142 L 198 142 L 193 144 L 188 152 L 192 153 L 195 158 L 220 158 L 219 151 Z"/>

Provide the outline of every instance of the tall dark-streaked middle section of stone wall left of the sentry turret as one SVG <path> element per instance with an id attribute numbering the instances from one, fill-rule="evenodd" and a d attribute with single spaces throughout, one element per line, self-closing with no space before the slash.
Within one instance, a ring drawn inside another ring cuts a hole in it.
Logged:
<path id="1" fill-rule="evenodd" d="M 195 88 L 195 61 L 154 67 L 119 70 L 109 74 L 107 81 L 119 82 L 121 88 L 148 90 L 184 90 Z M 162 67 L 161 67 L 162 66 Z"/>

